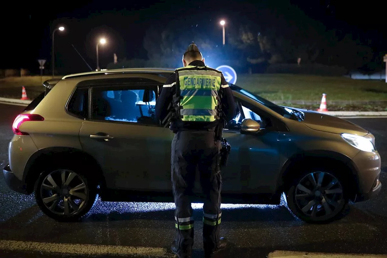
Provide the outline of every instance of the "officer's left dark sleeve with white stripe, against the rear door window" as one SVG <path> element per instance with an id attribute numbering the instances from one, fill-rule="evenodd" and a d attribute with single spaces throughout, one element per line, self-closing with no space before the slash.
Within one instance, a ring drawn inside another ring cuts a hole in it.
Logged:
<path id="1" fill-rule="evenodd" d="M 175 87 L 176 87 L 176 76 L 175 76 L 175 73 L 173 73 L 171 74 L 170 77 L 168 77 L 167 81 L 163 85 L 163 88 L 161 88 L 160 95 L 156 100 L 155 113 L 156 113 L 157 120 L 162 121 L 164 120 L 166 115 L 168 115 L 168 106 L 172 101 L 172 96 L 173 96 Z"/>

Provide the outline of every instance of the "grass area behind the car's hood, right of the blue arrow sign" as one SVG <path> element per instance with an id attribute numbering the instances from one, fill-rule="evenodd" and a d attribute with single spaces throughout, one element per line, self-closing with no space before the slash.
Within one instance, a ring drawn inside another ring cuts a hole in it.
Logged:
<path id="1" fill-rule="evenodd" d="M 251 74 L 238 76 L 236 84 L 268 99 L 291 103 L 387 101 L 387 84 L 378 80 L 355 80 L 346 77 L 305 76 L 293 74 Z"/>

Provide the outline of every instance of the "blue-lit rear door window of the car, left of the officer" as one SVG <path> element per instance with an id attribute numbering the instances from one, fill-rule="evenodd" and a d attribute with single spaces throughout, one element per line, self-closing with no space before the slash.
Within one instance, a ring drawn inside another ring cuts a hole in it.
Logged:
<path id="1" fill-rule="evenodd" d="M 144 98 L 149 94 L 149 98 Z M 148 100 L 144 102 L 144 100 Z M 92 119 L 139 124 L 157 124 L 156 94 L 142 86 L 96 87 L 92 91 Z"/>

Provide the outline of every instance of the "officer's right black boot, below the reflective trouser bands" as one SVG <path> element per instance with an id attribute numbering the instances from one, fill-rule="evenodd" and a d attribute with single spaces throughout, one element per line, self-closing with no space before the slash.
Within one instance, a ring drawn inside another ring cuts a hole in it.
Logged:
<path id="1" fill-rule="evenodd" d="M 210 258 L 218 251 L 226 248 L 227 239 L 224 237 L 219 237 L 219 231 L 219 225 L 203 225 L 203 247 L 205 258 Z"/>

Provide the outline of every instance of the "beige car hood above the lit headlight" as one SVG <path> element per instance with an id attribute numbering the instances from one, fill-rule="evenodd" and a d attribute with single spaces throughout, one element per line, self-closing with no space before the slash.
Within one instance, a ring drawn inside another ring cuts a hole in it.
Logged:
<path id="1" fill-rule="evenodd" d="M 303 110 L 298 108 L 293 109 L 303 112 L 305 117 L 302 122 L 314 130 L 332 132 L 335 134 L 349 133 L 356 134 L 358 136 L 366 136 L 369 133 L 367 130 L 361 128 L 360 126 L 338 117 L 311 110 Z"/>

